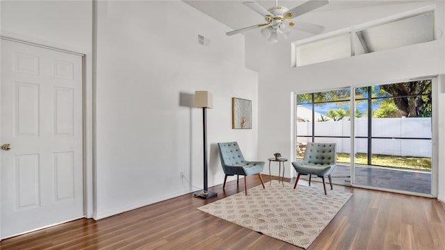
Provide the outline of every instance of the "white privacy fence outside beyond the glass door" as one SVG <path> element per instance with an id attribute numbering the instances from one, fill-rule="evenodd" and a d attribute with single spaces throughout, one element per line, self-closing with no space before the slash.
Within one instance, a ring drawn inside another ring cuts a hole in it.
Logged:
<path id="1" fill-rule="evenodd" d="M 301 135 L 312 135 L 312 122 L 297 122 L 298 142 L 311 142 L 312 138 Z M 350 121 L 315 122 L 315 136 L 350 136 Z M 391 156 L 431 157 L 431 139 L 398 139 L 398 138 L 432 138 L 430 117 L 401 117 L 372 119 L 372 153 Z M 368 117 L 355 119 L 355 152 L 368 152 Z M 377 137 L 377 138 L 375 138 Z M 390 138 L 390 139 L 379 139 Z M 334 142 L 338 153 L 350 153 L 350 138 L 315 138 L 316 142 Z"/>

